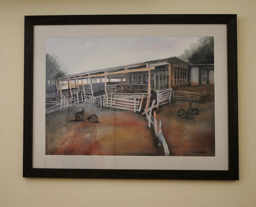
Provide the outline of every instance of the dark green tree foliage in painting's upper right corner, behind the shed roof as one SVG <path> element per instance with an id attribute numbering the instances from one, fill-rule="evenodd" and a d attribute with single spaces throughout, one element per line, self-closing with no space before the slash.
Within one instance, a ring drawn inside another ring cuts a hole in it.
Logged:
<path id="1" fill-rule="evenodd" d="M 192 64 L 214 63 L 214 39 L 213 37 L 201 37 L 196 43 L 191 44 L 180 58 Z"/>

